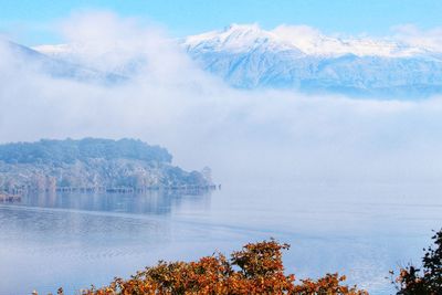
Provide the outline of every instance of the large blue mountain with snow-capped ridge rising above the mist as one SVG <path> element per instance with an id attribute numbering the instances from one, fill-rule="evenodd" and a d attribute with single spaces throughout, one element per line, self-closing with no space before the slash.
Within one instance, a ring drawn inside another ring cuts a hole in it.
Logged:
<path id="1" fill-rule="evenodd" d="M 235 87 L 277 87 L 361 95 L 442 92 L 438 52 L 390 40 L 343 39 L 308 27 L 233 24 L 181 45 L 203 69 Z"/>

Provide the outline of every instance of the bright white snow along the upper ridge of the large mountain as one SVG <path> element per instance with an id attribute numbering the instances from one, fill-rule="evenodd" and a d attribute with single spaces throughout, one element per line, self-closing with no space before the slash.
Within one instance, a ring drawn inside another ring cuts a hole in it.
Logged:
<path id="1" fill-rule="evenodd" d="M 182 45 L 201 51 L 291 50 L 299 54 L 327 56 L 406 57 L 428 52 L 391 40 L 328 36 L 306 25 L 280 25 L 265 31 L 257 24 L 232 24 L 223 31 L 188 36 Z"/>

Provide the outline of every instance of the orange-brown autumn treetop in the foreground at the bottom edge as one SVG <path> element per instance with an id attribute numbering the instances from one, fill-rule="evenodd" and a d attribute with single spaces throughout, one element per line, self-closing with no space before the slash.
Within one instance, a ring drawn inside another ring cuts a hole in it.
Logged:
<path id="1" fill-rule="evenodd" d="M 284 274 L 282 251 L 287 244 L 263 241 L 243 246 L 230 259 L 222 254 L 197 262 L 164 262 L 137 272 L 129 280 L 115 278 L 108 286 L 92 287 L 82 295 L 140 294 L 293 294 L 364 295 L 365 291 L 344 285 L 345 276 L 327 274 L 296 283 Z M 59 294 L 63 294 L 59 289 Z"/>

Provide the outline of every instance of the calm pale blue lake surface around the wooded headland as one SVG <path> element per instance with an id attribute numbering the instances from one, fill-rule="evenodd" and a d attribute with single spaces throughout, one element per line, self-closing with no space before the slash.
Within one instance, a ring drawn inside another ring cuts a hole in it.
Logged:
<path id="1" fill-rule="evenodd" d="M 202 196 L 41 194 L 0 203 L 0 294 L 73 294 L 158 260 L 229 253 L 274 236 L 297 277 L 341 272 L 392 294 L 388 271 L 418 262 L 442 226 L 442 186 L 224 183 Z"/>

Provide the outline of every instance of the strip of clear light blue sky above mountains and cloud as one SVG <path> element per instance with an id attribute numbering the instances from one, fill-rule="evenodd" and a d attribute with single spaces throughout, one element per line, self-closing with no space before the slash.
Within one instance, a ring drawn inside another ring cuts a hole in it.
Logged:
<path id="1" fill-rule="evenodd" d="M 326 33 L 386 35 L 390 28 L 442 25 L 440 0 L 0 0 L 0 33 L 35 45 L 60 42 L 53 24 L 82 10 L 109 10 L 182 36 L 236 23 L 307 24 Z"/>

